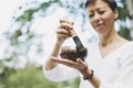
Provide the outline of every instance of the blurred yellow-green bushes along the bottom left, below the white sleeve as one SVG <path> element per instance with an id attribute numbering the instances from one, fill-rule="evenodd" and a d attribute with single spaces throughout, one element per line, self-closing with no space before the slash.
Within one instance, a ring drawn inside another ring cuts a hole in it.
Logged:
<path id="1" fill-rule="evenodd" d="M 44 77 L 42 69 L 34 65 L 10 70 L 2 81 L 4 82 L 0 84 L 0 88 L 64 88 L 66 86 L 78 88 L 79 86 L 79 78 L 62 82 L 50 81 Z"/>

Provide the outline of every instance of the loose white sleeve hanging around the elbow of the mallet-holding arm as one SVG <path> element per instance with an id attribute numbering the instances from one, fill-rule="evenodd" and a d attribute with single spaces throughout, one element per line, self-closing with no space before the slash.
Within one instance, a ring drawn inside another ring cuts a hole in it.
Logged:
<path id="1" fill-rule="evenodd" d="M 45 70 L 44 67 L 45 66 L 43 65 L 43 74 L 45 78 L 52 81 L 63 81 L 79 76 L 79 72 L 76 69 L 61 64 L 59 64 L 52 70 Z"/>

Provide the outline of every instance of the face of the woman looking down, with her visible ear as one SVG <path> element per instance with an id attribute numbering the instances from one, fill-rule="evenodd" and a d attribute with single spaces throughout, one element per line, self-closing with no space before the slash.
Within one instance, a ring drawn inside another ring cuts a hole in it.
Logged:
<path id="1" fill-rule="evenodd" d="M 100 35 L 108 35 L 114 30 L 117 11 L 112 11 L 108 3 L 96 0 L 88 6 L 89 20 Z"/>

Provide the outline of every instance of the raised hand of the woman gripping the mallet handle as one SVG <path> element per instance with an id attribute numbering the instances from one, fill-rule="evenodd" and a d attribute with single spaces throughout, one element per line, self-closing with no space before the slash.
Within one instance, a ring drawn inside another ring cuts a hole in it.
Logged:
<path id="1" fill-rule="evenodd" d="M 70 30 L 73 30 L 73 22 L 68 18 L 60 19 L 60 25 L 57 30 L 58 43 L 62 44 L 68 37 L 71 37 Z"/>

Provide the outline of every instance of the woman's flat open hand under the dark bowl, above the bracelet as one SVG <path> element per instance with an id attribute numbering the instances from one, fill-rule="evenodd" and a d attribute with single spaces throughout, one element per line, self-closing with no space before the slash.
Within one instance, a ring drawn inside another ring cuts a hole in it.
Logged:
<path id="1" fill-rule="evenodd" d="M 89 67 L 85 62 L 83 62 L 81 58 L 76 58 L 76 62 L 65 59 L 65 58 L 58 58 L 58 57 L 51 57 L 51 59 L 58 64 L 63 64 L 65 66 L 72 67 L 78 69 L 83 76 L 89 74 Z"/>

